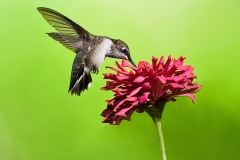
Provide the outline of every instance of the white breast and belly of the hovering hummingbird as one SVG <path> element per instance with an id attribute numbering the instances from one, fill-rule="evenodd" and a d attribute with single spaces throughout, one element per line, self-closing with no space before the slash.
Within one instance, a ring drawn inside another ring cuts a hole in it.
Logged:
<path id="1" fill-rule="evenodd" d="M 96 44 L 90 51 L 89 56 L 87 57 L 86 67 L 91 70 L 92 66 L 98 68 L 104 61 L 106 54 L 111 51 L 111 46 L 113 42 L 103 37 L 102 41 L 99 44 Z"/>

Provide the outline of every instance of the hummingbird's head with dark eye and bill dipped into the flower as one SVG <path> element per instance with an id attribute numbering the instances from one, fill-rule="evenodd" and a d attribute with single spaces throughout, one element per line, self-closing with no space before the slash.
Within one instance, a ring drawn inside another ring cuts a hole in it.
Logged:
<path id="1" fill-rule="evenodd" d="M 112 58 L 125 59 L 129 61 L 133 66 L 137 67 L 130 56 L 130 50 L 127 44 L 120 39 L 112 41 L 113 44 L 111 46 L 110 53 L 107 56 Z"/>

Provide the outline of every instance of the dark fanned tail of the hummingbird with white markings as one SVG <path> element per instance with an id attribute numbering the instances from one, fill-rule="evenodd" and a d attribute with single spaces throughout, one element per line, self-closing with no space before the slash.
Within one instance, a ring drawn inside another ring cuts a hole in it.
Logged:
<path id="1" fill-rule="evenodd" d="M 79 79 L 75 82 L 74 86 L 69 88 L 69 92 L 71 95 L 76 94 L 80 96 L 81 92 L 85 89 L 87 90 L 92 83 L 92 76 L 90 73 L 83 72 L 83 75 L 79 77 Z"/>

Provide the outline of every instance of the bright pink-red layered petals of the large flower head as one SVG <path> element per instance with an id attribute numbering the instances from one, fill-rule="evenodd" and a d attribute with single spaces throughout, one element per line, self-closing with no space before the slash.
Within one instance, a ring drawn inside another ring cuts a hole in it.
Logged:
<path id="1" fill-rule="evenodd" d="M 120 124 L 123 119 L 130 120 L 134 111 L 146 111 L 149 106 L 176 101 L 176 96 L 188 96 L 195 103 L 196 93 L 202 88 L 193 82 L 197 78 L 193 67 L 183 65 L 185 57 L 177 60 L 168 56 L 164 61 L 152 57 L 152 64 L 145 61 L 138 63 L 138 68 L 122 60 L 117 68 L 107 67 L 116 73 L 104 74 L 108 79 L 102 90 L 113 91 L 114 98 L 107 100 L 107 109 L 102 112 L 103 123 Z M 130 68 L 130 70 L 127 70 Z"/>

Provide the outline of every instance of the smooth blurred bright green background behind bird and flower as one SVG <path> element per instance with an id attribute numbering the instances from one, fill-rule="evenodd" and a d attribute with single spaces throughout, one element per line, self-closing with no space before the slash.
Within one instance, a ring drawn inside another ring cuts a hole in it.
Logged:
<path id="1" fill-rule="evenodd" d="M 106 59 L 81 97 L 67 93 L 75 56 L 45 32 L 49 7 L 97 35 L 124 40 L 135 62 L 186 56 L 204 87 L 169 102 L 163 134 L 169 160 L 240 159 L 240 1 L 0 1 L 0 159 L 157 160 L 155 125 L 146 113 L 120 126 L 102 124 L 112 93 Z"/>

